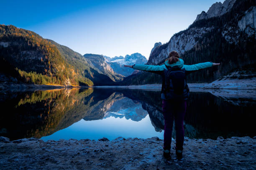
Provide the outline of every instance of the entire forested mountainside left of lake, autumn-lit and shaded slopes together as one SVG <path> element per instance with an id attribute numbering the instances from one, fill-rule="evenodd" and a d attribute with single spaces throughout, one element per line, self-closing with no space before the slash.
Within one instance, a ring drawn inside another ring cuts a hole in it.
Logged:
<path id="1" fill-rule="evenodd" d="M 79 53 L 13 25 L 0 25 L 0 66 L 0 82 L 89 86 L 113 83 Z"/>

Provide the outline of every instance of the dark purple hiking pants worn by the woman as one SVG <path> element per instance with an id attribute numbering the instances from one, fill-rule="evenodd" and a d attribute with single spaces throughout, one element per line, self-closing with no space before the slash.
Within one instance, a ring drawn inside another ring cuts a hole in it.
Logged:
<path id="1" fill-rule="evenodd" d="M 164 114 L 164 150 L 171 149 L 172 127 L 175 120 L 176 130 L 176 150 L 183 150 L 184 127 L 183 121 L 187 108 L 187 101 L 163 100 L 162 103 Z"/>

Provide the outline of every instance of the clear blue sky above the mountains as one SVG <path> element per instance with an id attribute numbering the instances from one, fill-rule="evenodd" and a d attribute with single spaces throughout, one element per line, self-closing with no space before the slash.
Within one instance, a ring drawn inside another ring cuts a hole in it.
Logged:
<path id="1" fill-rule="evenodd" d="M 218 2 L 224 0 L 218 0 Z M 168 42 L 217 0 L 5 0 L 0 24 L 32 30 L 85 53 L 109 57 Z"/>

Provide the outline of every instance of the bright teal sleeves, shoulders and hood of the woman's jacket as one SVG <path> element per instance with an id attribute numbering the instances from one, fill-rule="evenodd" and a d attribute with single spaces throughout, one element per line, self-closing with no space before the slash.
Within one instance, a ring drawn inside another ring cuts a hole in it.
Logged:
<path id="1" fill-rule="evenodd" d="M 202 62 L 194 65 L 184 65 L 184 61 L 182 59 L 179 59 L 174 64 L 169 64 L 168 61 L 165 61 L 163 65 L 145 65 L 145 64 L 135 64 L 133 65 L 134 70 L 143 70 L 143 71 L 151 71 L 151 72 L 161 72 L 167 70 L 167 67 L 174 67 L 178 66 L 181 69 L 185 69 L 186 71 L 196 71 L 201 70 L 207 67 L 212 67 L 212 62 Z"/>

